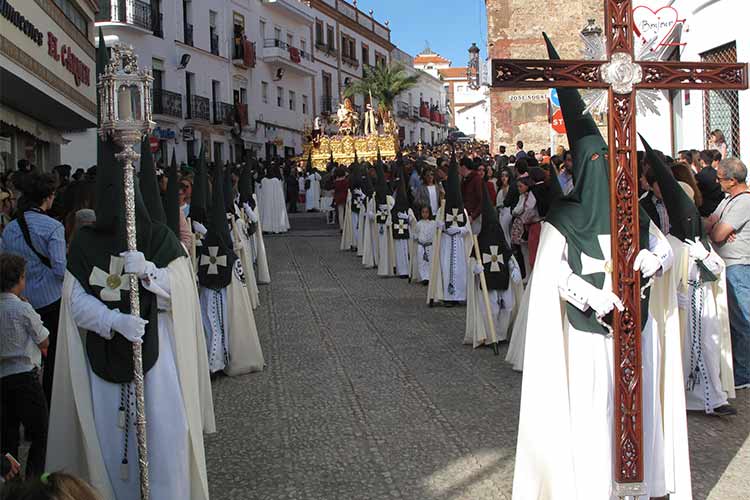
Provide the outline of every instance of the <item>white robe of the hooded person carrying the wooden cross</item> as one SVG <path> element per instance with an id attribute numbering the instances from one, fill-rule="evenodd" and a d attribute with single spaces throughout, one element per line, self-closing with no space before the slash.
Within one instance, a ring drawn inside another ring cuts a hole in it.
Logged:
<path id="1" fill-rule="evenodd" d="M 653 224 L 652 229 L 663 252 L 666 240 Z M 559 281 L 560 269 L 567 265 L 566 248 L 562 234 L 543 224 L 528 300 L 544 314 L 530 314 L 527 319 L 514 500 L 616 498 L 612 494 L 613 342 L 568 323 Z M 665 268 L 668 260 L 662 260 Z M 652 295 L 650 308 L 666 314 L 670 305 L 660 300 L 662 295 L 658 290 Z M 689 467 L 687 475 L 684 470 L 687 446 L 677 446 L 687 443 L 684 399 L 680 425 L 675 411 L 679 400 L 671 396 L 676 382 L 669 376 L 663 379 L 665 394 L 670 394 L 664 408 L 660 398 L 662 366 L 669 371 L 674 358 L 679 358 L 670 347 L 664 364 L 660 339 L 673 337 L 676 330 L 674 325 L 661 328 L 660 318 L 649 318 L 642 333 L 644 479 L 651 496 L 663 496 L 668 490 L 672 498 L 690 498 Z"/>

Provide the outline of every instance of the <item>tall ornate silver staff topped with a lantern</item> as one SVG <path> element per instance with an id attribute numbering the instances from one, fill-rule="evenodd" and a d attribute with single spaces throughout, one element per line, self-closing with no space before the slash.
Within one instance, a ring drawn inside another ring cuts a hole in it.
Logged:
<path id="1" fill-rule="evenodd" d="M 132 47 L 115 45 L 112 56 L 97 84 L 100 102 L 99 136 L 111 137 L 122 152 L 116 155 L 123 162 L 125 185 L 125 233 L 128 250 L 137 250 L 135 232 L 134 166 L 141 155 L 133 146 L 141 142 L 144 134 L 156 125 L 151 120 L 151 82 L 147 69 L 138 69 L 138 56 Z M 138 277 L 130 275 L 130 314 L 140 316 Z M 135 430 L 138 440 L 138 470 L 141 500 L 150 495 L 148 479 L 148 448 L 146 446 L 146 403 L 143 394 L 143 353 L 141 344 L 133 344 L 133 382 L 135 384 Z"/>

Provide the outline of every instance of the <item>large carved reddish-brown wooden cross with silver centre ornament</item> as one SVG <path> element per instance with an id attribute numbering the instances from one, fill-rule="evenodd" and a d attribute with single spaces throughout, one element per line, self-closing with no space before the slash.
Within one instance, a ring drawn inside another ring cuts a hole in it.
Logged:
<path id="1" fill-rule="evenodd" d="M 614 315 L 614 477 L 621 497 L 645 494 L 641 387 L 638 89 L 743 90 L 747 64 L 634 61 L 632 0 L 604 0 L 607 60 L 493 59 L 492 86 L 506 89 L 598 88 L 609 93 L 609 162 L 613 290 L 625 309 Z M 572 145 L 571 145 L 572 146 Z"/>

